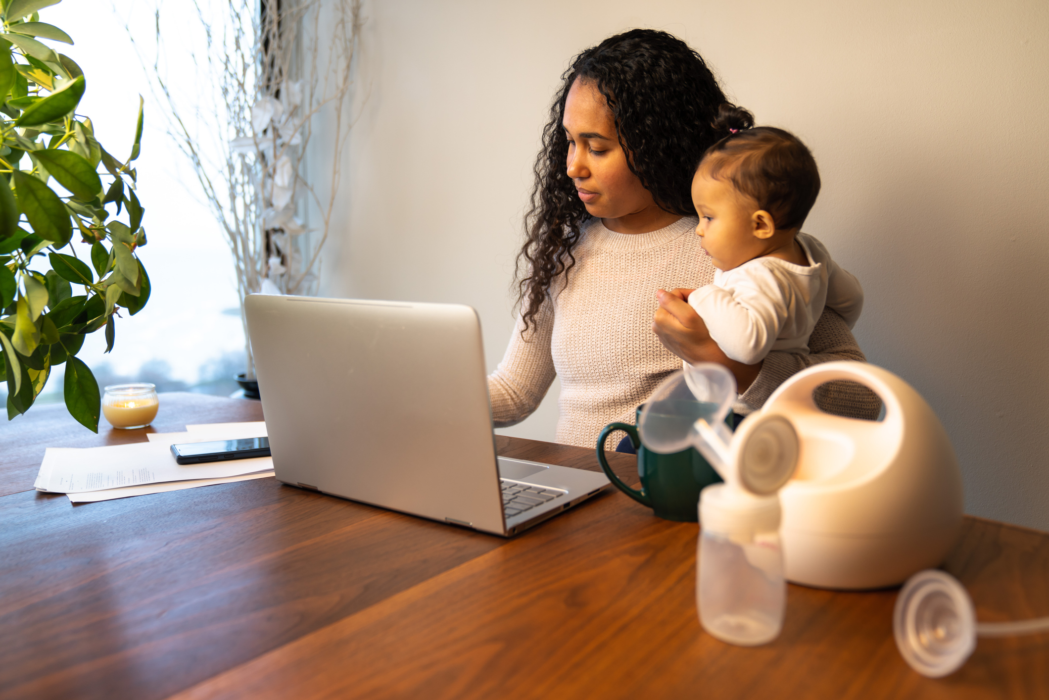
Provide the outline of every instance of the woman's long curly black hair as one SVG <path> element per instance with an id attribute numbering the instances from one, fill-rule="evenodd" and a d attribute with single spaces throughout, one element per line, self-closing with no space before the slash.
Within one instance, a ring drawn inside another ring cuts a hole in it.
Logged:
<path id="1" fill-rule="evenodd" d="M 577 79 L 593 83 L 604 96 L 630 172 L 668 212 L 695 214 L 692 175 L 703 153 L 724 135 L 712 123 L 725 94 L 700 55 L 677 37 L 631 29 L 579 54 L 561 76 L 533 168 L 535 185 L 515 280 L 522 333 L 553 281 L 575 266 L 572 250 L 590 217 L 568 174 L 569 141 L 561 126 Z"/>

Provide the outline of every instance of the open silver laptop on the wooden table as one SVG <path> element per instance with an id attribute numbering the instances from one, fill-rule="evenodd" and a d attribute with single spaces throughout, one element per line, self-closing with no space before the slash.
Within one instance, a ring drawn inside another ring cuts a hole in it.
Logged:
<path id="1" fill-rule="evenodd" d="M 504 536 L 609 486 L 496 455 L 470 306 L 256 294 L 244 313 L 284 484 Z"/>

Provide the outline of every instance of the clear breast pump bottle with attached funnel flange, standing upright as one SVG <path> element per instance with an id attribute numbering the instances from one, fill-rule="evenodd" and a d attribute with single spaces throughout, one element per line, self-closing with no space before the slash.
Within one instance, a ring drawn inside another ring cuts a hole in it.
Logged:
<path id="1" fill-rule="evenodd" d="M 695 447 L 725 480 L 700 494 L 697 607 L 712 636 L 752 646 L 772 641 L 783 628 L 787 584 L 777 492 L 794 473 L 798 439 L 776 413 L 754 416 L 729 432 L 724 420 L 735 395 L 735 379 L 721 365 L 686 367 L 657 388 L 638 431 L 656 452 Z"/>

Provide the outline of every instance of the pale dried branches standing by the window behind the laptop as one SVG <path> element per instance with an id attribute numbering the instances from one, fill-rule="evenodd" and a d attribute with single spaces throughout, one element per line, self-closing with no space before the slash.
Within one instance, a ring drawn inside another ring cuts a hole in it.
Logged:
<path id="1" fill-rule="evenodd" d="M 361 3 L 193 4 L 206 37 L 205 55 L 193 57 L 199 89 L 192 98 L 176 94 L 165 77 L 159 8 L 153 87 L 168 107 L 168 133 L 192 165 L 233 253 L 243 321 L 249 294 L 317 292 L 351 126 Z M 325 144 L 311 149 L 318 119 Z M 252 379 L 247 325 L 244 349 Z"/>

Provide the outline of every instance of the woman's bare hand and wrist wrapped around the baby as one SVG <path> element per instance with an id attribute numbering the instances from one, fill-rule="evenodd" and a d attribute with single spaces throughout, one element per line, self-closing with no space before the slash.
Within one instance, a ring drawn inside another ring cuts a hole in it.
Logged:
<path id="1" fill-rule="evenodd" d="M 688 295 L 693 291 L 682 288 L 658 291 L 659 309 L 652 318 L 652 332 L 664 347 L 689 364 L 716 362 L 728 367 L 735 375 L 738 391 L 743 394 L 762 372 L 764 360 L 757 364 L 743 364 L 725 355 L 710 337 L 707 324 L 688 305 Z"/>

